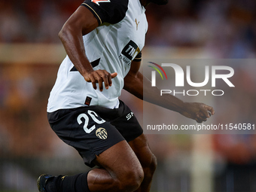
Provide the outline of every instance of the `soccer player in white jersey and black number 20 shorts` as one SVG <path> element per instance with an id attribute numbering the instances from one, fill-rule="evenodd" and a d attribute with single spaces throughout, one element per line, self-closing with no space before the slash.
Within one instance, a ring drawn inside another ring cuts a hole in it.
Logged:
<path id="1" fill-rule="evenodd" d="M 121 90 L 185 117 L 206 121 L 202 103 L 161 96 L 139 72 L 148 23 L 145 6 L 168 0 L 85 0 L 66 21 L 59 38 L 67 56 L 47 105 L 51 128 L 74 147 L 87 166 L 78 175 L 41 175 L 41 192 L 149 191 L 157 160 L 142 127 L 122 101 Z"/>

